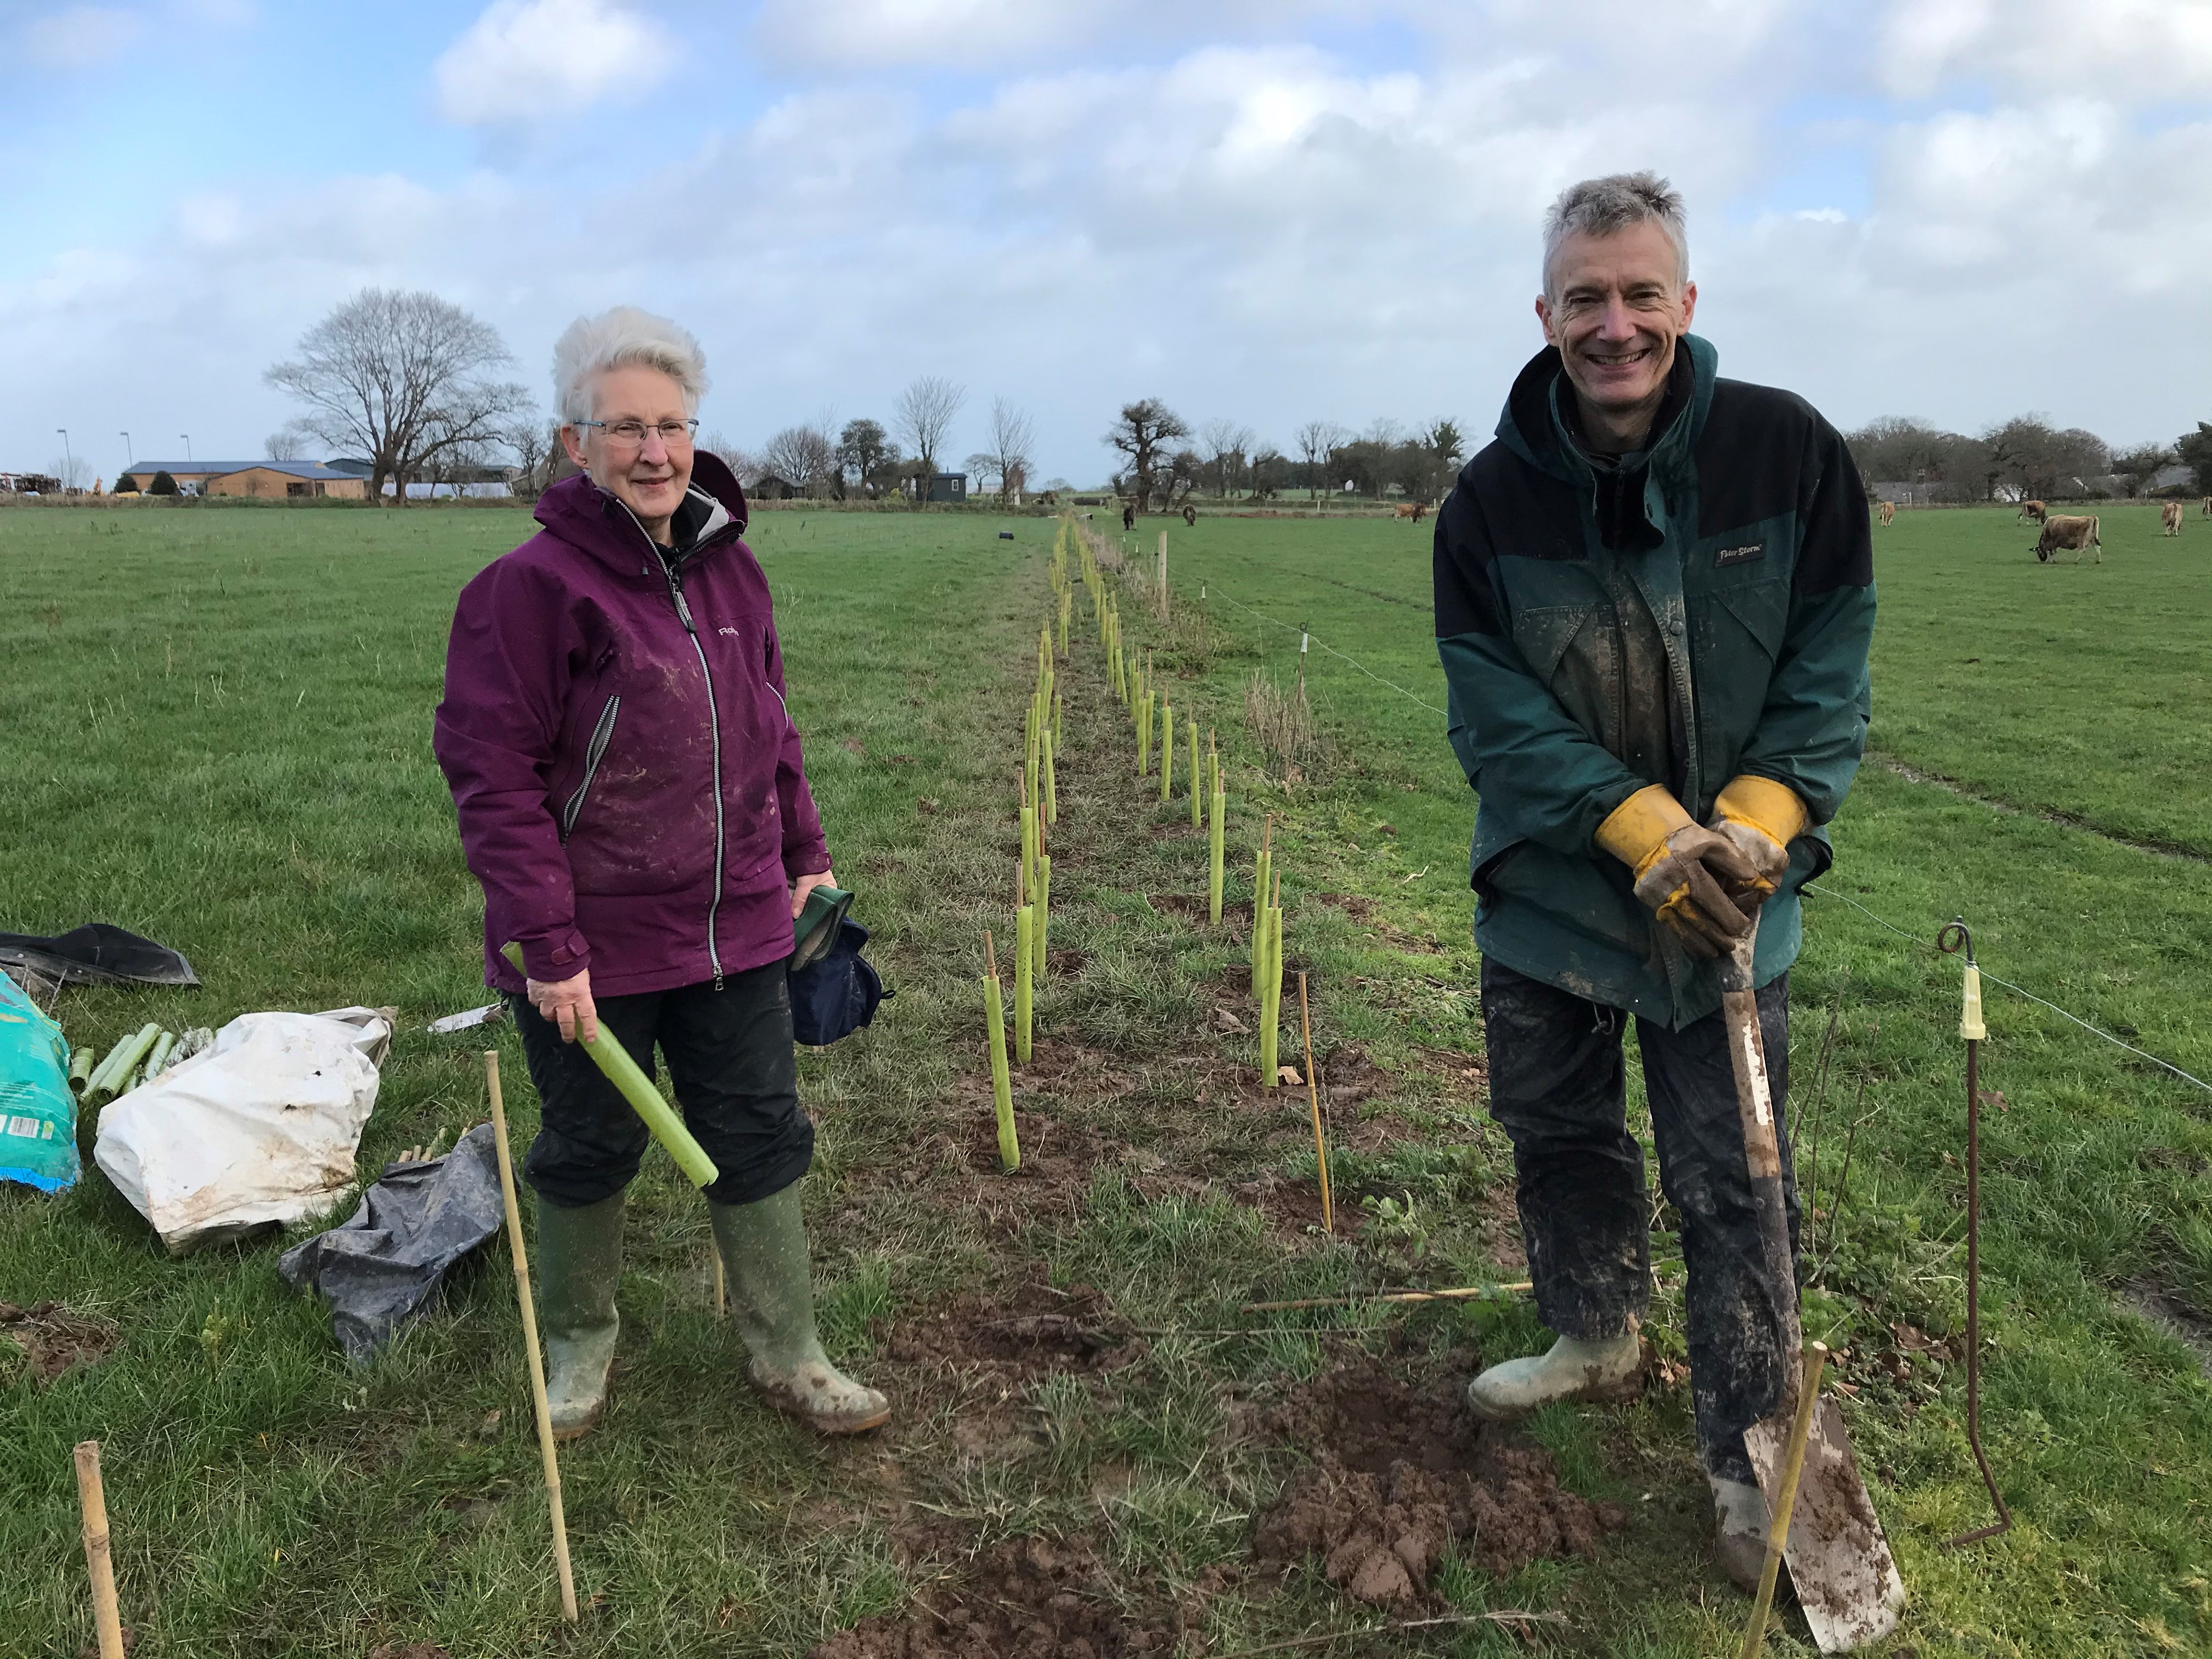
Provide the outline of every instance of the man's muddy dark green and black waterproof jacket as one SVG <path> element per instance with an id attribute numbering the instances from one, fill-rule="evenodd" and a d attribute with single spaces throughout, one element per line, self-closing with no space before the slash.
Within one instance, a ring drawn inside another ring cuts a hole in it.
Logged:
<path id="1" fill-rule="evenodd" d="M 1712 1013 L 1719 982 L 1657 927 L 1597 825 L 1650 783 L 1701 823 L 1739 772 L 1790 785 L 1812 827 L 1765 902 L 1765 984 L 1796 960 L 1798 887 L 1834 856 L 1818 825 L 1871 708 L 1874 544 L 1851 453 L 1803 398 L 1721 380 L 1717 361 L 1686 334 L 1646 451 L 1601 469 L 1546 347 L 1436 520 L 1451 745 L 1480 796 L 1475 945 L 1670 1029 Z"/>

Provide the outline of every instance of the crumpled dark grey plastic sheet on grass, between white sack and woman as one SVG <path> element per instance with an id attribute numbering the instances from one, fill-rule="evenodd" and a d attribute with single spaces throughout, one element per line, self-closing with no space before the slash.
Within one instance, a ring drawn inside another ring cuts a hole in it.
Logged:
<path id="1" fill-rule="evenodd" d="M 500 1230 L 498 1146 L 478 1124 L 445 1157 L 392 1164 L 352 1219 L 276 1261 L 294 1290 L 330 1303 L 345 1358 L 365 1365 L 438 1294 L 447 1270 Z"/>

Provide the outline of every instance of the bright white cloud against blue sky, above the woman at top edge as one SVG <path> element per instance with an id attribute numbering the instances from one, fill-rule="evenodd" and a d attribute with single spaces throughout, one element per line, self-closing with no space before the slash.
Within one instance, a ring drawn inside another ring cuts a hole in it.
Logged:
<path id="1" fill-rule="evenodd" d="M 449 122 L 529 126 L 635 102 L 675 66 L 668 31 L 613 0 L 493 0 L 431 73 Z"/>

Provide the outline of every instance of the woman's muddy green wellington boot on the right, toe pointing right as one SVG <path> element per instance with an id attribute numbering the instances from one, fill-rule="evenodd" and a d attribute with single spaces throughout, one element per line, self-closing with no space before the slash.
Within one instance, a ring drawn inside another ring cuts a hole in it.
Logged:
<path id="1" fill-rule="evenodd" d="M 708 1203 L 730 1276 L 730 1312 L 752 1356 L 752 1385 L 821 1433 L 860 1433 L 889 1420 L 891 1402 L 823 1354 L 799 1183 L 757 1203 Z"/>

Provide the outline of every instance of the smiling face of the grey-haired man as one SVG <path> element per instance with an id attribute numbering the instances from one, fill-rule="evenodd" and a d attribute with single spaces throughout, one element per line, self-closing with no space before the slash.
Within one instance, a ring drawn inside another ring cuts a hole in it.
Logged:
<path id="1" fill-rule="evenodd" d="M 1544 338 L 1559 347 L 1566 378 L 1599 409 L 1659 407 L 1674 367 L 1674 341 L 1697 312 L 1697 283 L 1657 223 L 1559 243 L 1535 303 Z"/>

